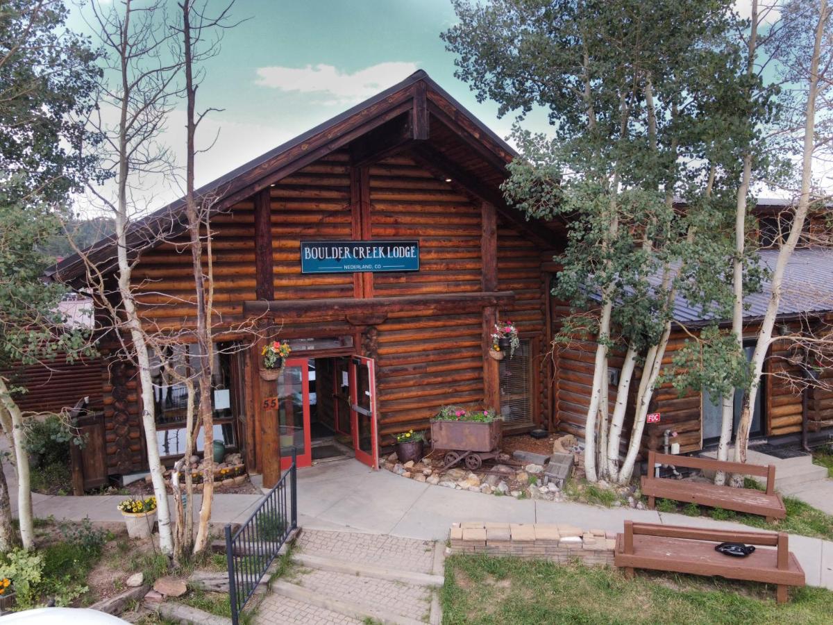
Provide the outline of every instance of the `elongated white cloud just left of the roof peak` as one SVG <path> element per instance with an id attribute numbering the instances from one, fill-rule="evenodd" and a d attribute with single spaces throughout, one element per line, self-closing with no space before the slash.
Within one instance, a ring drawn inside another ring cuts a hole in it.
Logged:
<path id="1" fill-rule="evenodd" d="M 360 102 L 416 72 L 415 62 L 382 62 L 357 72 L 340 72 L 319 63 L 307 67 L 258 67 L 256 84 L 284 92 L 315 93 L 321 103 L 344 105 Z"/>

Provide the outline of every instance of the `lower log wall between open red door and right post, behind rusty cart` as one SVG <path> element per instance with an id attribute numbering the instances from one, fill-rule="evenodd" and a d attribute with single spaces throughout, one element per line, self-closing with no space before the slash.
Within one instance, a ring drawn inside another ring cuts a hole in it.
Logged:
<path id="1" fill-rule="evenodd" d="M 451 312 L 451 311 L 449 311 Z M 392 314 L 378 327 L 377 410 L 382 444 L 449 404 L 481 407 L 481 315 Z"/>

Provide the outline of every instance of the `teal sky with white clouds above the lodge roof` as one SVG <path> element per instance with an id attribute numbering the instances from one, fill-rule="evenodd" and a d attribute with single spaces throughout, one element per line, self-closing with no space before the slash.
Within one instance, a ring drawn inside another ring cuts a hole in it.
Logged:
<path id="1" fill-rule="evenodd" d="M 108 0 L 102 0 L 107 2 Z M 141 0 L 137 0 L 141 2 Z M 225 6 L 225 0 L 211 0 Z M 171 0 L 175 8 L 175 0 Z M 748 15 L 751 0 L 739 0 Z M 222 51 L 206 63 L 197 108 L 211 112 L 199 128 L 197 186 L 306 132 L 357 102 L 423 69 L 502 138 L 512 113 L 497 117 L 494 102 L 476 102 L 454 77 L 455 55 L 440 33 L 456 23 L 451 0 L 237 0 Z M 90 32 L 74 9 L 70 28 Z M 163 140 L 178 163 L 185 157 L 183 106 Z M 534 111 L 526 128 L 546 132 L 546 113 Z M 158 208 L 178 198 L 169 181 L 152 183 L 142 199 Z M 143 211 L 142 211 L 143 212 Z"/>

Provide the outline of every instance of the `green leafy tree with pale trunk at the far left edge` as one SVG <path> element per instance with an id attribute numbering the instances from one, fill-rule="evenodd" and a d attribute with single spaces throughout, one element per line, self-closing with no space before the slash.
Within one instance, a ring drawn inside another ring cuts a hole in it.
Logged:
<path id="1" fill-rule="evenodd" d="M 56 308 L 64 291 L 42 282 L 51 259 L 39 251 L 60 232 L 68 194 L 95 175 L 95 159 L 78 157 L 77 148 L 96 141 L 83 122 L 94 105 L 96 52 L 65 29 L 66 18 L 54 0 L 0 5 L 0 369 L 84 349 L 82 333 L 62 330 Z M 0 423 L 14 448 L 20 534 L 30 548 L 24 415 L 14 399 L 22 391 L 0 376 Z M 0 500 L 0 522 L 7 507 Z M 14 539 L 0 532 L 0 541 Z"/>

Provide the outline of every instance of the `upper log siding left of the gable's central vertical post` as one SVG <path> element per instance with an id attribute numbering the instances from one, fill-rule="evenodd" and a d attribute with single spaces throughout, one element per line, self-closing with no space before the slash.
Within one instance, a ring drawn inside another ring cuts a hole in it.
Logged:
<path id="1" fill-rule="evenodd" d="M 350 273 L 304 275 L 300 241 L 352 238 L 346 153 L 334 153 L 272 187 L 272 258 L 276 299 L 352 297 Z M 256 299 L 254 203 L 212 218 L 214 323 L 242 321 L 242 303 Z M 207 258 L 206 258 L 207 266 Z M 142 254 L 133 272 L 142 282 L 142 314 L 162 328 L 194 325 L 194 288 L 187 236 Z"/>

